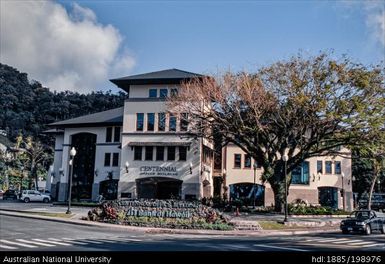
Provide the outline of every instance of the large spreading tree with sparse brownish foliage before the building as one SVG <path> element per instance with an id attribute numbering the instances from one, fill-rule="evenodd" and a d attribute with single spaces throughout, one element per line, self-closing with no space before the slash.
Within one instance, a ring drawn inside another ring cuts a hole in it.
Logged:
<path id="1" fill-rule="evenodd" d="M 370 140 L 368 131 L 385 124 L 384 69 L 365 67 L 327 54 L 299 55 L 258 70 L 227 73 L 216 80 L 184 83 L 168 102 L 170 112 L 188 113 L 191 133 L 213 137 L 214 127 L 254 159 L 262 161 L 262 180 L 282 210 L 287 171 L 303 160 L 339 155 L 337 147 Z"/>

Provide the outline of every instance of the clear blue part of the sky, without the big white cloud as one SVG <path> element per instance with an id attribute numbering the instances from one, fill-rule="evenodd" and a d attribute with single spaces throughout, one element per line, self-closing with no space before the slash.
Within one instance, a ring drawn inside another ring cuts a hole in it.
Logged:
<path id="1" fill-rule="evenodd" d="M 112 27 L 116 31 L 115 35 L 111 33 L 116 38 L 112 43 L 118 44 L 109 53 L 116 58 L 107 62 L 110 63 L 107 67 L 115 70 L 104 72 L 107 79 L 166 68 L 206 74 L 228 69 L 254 71 L 299 51 L 314 55 L 321 50 L 334 50 L 337 57 L 347 54 L 364 64 L 379 63 L 385 56 L 383 1 L 56 1 L 54 4 L 64 7 L 72 22 L 88 21 L 99 29 Z M 89 37 L 92 39 L 92 34 Z M 90 43 L 92 50 L 99 41 L 96 38 Z M 125 63 L 119 66 L 120 61 Z M 71 65 L 69 62 L 65 67 Z M 93 87 L 116 91 L 106 78 L 104 81 L 100 78 Z M 87 89 L 82 92 L 93 88 Z"/>

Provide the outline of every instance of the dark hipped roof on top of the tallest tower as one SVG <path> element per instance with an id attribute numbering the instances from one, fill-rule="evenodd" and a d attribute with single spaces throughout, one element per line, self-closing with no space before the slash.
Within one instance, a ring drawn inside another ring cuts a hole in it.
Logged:
<path id="1" fill-rule="evenodd" d="M 127 91 L 130 85 L 135 84 L 179 84 L 184 80 L 202 77 L 204 75 L 178 69 L 168 69 L 111 79 L 110 81 Z"/>

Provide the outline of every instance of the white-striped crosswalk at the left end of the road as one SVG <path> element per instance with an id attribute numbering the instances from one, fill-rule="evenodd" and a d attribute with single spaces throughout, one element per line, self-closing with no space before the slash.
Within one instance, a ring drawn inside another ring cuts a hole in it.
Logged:
<path id="1" fill-rule="evenodd" d="M 111 243 L 140 242 L 142 240 L 129 237 L 110 238 L 29 238 L 0 239 L 0 251 L 8 250 L 44 250 L 45 248 L 92 246 Z"/>

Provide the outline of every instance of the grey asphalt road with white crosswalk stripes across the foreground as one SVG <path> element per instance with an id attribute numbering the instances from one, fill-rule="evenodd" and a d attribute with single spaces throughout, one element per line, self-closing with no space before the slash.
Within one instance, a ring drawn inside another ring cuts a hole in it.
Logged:
<path id="1" fill-rule="evenodd" d="M 150 234 L 0 215 L 0 251 L 378 251 L 385 236 Z"/>

